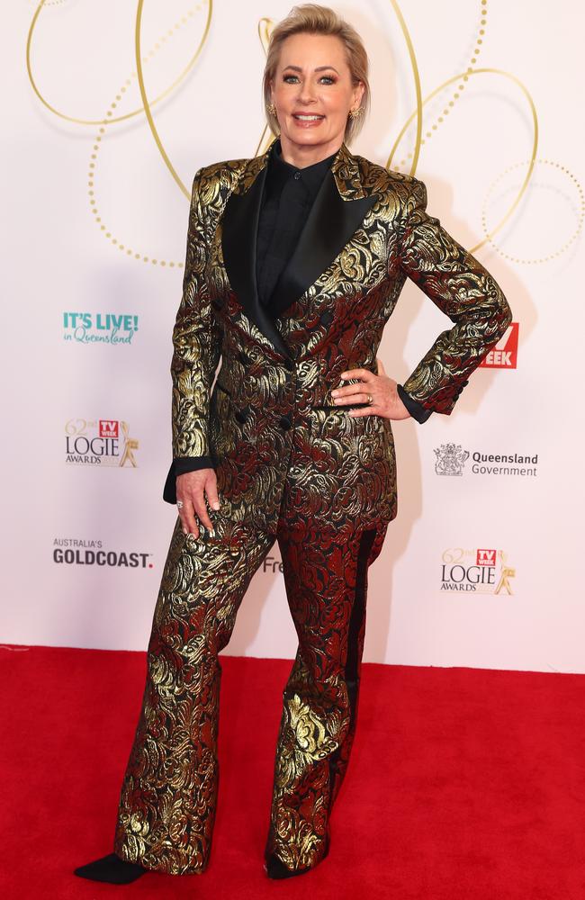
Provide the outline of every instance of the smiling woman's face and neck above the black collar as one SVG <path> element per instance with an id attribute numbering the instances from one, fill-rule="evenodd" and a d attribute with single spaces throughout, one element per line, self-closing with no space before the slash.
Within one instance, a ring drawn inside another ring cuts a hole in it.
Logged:
<path id="1" fill-rule="evenodd" d="M 271 88 L 284 152 L 314 147 L 323 157 L 341 146 L 347 114 L 364 93 L 362 82 L 352 84 L 346 49 L 333 34 L 286 38 Z"/>

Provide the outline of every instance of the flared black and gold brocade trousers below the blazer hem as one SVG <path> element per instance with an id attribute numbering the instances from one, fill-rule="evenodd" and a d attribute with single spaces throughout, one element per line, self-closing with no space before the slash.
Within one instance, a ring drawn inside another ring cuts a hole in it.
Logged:
<path id="1" fill-rule="evenodd" d="M 214 535 L 177 518 L 152 631 L 139 722 L 121 787 L 114 851 L 173 875 L 207 868 L 219 786 L 221 666 L 252 576 L 278 541 L 298 650 L 283 691 L 265 856 L 315 866 L 354 735 L 367 570 L 387 525 L 281 514 L 276 534 L 211 510 Z M 244 775 L 244 773 L 242 773 Z M 268 813 L 268 811 L 267 811 Z"/>

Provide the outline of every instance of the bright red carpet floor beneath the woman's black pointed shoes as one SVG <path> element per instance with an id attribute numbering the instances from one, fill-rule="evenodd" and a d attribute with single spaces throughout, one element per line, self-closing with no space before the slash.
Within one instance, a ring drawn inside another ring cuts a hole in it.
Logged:
<path id="1" fill-rule="evenodd" d="M 262 869 L 288 660 L 222 656 L 209 869 L 129 886 L 71 870 L 112 851 L 143 653 L 0 649 L 0 896 L 585 900 L 585 676 L 364 666 L 354 753 L 318 869 Z"/>

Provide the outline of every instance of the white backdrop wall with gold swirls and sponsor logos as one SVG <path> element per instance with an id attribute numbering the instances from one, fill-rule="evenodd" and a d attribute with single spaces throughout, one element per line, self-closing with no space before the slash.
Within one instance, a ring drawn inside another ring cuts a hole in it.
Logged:
<path id="1" fill-rule="evenodd" d="M 258 26 L 291 5 L 147 0 L 153 128 L 136 0 L 5 10 L 5 642 L 146 647 L 175 519 L 161 492 L 180 183 L 266 146 Z M 393 425 L 399 516 L 369 574 L 365 660 L 583 672 L 583 6 L 335 6 L 371 58 L 372 113 L 351 149 L 427 184 L 428 211 L 496 277 L 515 322 L 450 417 Z M 407 282 L 388 374 L 404 381 L 448 325 Z M 275 545 L 227 653 L 293 657 L 279 564 Z"/>

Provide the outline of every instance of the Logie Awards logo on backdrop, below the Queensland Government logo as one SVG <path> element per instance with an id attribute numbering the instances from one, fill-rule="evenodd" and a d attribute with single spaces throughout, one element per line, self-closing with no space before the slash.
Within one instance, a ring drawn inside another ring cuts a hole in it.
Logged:
<path id="1" fill-rule="evenodd" d="M 464 590 L 476 594 L 513 593 L 511 581 L 516 569 L 503 550 L 481 547 L 446 550 L 441 563 L 441 590 Z"/>

